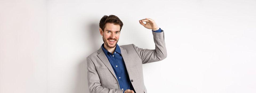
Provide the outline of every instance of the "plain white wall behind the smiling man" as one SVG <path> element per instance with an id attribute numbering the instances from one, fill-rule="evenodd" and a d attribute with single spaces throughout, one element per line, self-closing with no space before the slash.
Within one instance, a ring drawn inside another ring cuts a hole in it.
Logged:
<path id="1" fill-rule="evenodd" d="M 103 43 L 99 21 L 124 23 L 119 45 L 168 56 L 144 64 L 148 93 L 255 93 L 255 0 L 0 0 L 0 93 L 88 93 L 86 57 Z"/>

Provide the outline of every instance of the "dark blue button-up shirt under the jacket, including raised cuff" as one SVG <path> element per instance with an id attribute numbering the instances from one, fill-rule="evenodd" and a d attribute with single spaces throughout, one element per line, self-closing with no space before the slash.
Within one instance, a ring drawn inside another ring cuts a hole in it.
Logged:
<path id="1" fill-rule="evenodd" d="M 152 30 L 153 31 L 153 30 Z M 153 32 L 162 32 L 161 28 L 159 28 L 156 31 Z M 116 44 L 116 49 L 114 51 L 114 53 L 110 53 L 108 52 L 105 48 L 104 48 L 104 43 L 101 45 L 102 50 L 104 51 L 105 55 L 108 58 L 108 61 L 110 62 L 115 74 L 116 74 L 116 78 L 118 80 L 119 86 L 121 90 L 134 90 L 132 83 L 130 81 L 126 66 L 124 64 L 124 60 L 123 57 L 121 55 L 121 50 L 119 45 Z"/>

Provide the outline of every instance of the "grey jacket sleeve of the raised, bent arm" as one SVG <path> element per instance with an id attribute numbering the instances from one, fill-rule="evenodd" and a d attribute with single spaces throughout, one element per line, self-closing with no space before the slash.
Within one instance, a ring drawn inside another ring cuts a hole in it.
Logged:
<path id="1" fill-rule="evenodd" d="M 134 49 L 140 56 L 142 64 L 161 61 L 167 57 L 165 42 L 164 42 L 164 31 L 152 32 L 153 39 L 155 42 L 155 49 L 142 49 L 138 48 L 133 44 Z"/>

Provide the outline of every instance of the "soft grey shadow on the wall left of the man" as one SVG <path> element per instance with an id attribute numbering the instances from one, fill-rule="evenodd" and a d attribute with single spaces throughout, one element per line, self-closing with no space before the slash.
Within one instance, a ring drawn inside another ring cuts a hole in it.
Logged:
<path id="1" fill-rule="evenodd" d="M 94 21 L 97 22 L 97 21 Z M 74 93 L 90 93 L 89 87 L 88 87 L 88 81 L 87 81 L 87 61 L 86 58 L 89 56 L 92 52 L 99 49 L 99 24 L 98 23 L 91 23 L 89 26 L 89 30 L 85 30 L 85 33 L 89 33 L 85 36 L 88 36 L 86 39 L 89 39 L 91 41 L 88 43 L 88 53 L 84 56 L 84 59 L 79 62 L 78 64 L 78 72 L 77 72 L 77 78 L 76 78 L 76 87 L 74 88 Z M 87 40 L 88 41 L 88 40 Z M 89 47 L 90 46 L 90 47 Z M 96 46 L 96 47 L 95 47 Z"/>

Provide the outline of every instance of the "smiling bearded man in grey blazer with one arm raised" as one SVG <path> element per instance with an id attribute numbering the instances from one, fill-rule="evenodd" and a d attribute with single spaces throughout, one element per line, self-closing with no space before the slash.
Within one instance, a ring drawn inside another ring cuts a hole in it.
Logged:
<path id="1" fill-rule="evenodd" d="M 139 22 L 152 29 L 154 50 L 138 48 L 134 44 L 117 45 L 123 22 L 115 15 L 101 18 L 99 30 L 104 43 L 87 57 L 90 93 L 147 93 L 142 64 L 163 60 L 167 53 L 164 32 L 155 21 L 146 18 Z"/>

